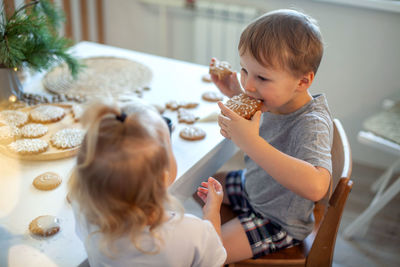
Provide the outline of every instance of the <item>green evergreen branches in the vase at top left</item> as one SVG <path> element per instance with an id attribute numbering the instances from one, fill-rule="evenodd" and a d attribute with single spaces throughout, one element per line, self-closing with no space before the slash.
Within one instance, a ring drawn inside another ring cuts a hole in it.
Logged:
<path id="1" fill-rule="evenodd" d="M 67 52 L 72 42 L 57 33 L 64 15 L 54 4 L 34 0 L 8 18 L 3 8 L 0 20 L 0 65 L 42 71 L 65 62 L 76 77 L 82 65 Z"/>

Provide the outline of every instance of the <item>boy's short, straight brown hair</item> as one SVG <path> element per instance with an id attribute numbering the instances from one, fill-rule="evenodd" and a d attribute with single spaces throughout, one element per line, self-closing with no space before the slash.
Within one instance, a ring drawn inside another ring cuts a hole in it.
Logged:
<path id="1" fill-rule="evenodd" d="M 318 70 L 323 54 L 317 22 L 295 10 L 262 15 L 242 32 L 239 53 L 249 52 L 266 67 L 288 71 L 295 77 Z"/>

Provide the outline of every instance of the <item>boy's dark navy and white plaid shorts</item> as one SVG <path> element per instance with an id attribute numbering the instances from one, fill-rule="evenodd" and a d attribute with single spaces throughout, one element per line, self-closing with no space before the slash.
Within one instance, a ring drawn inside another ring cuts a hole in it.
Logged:
<path id="1" fill-rule="evenodd" d="M 280 249 L 299 244 L 278 224 L 255 212 L 244 196 L 244 171 L 232 171 L 226 176 L 226 192 L 235 213 L 238 214 L 253 252 L 253 259 Z"/>

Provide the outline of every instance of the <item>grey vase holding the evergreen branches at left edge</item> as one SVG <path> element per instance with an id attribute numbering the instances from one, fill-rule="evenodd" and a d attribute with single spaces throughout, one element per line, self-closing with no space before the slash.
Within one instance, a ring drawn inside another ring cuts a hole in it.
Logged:
<path id="1" fill-rule="evenodd" d="M 0 66 L 0 102 L 22 99 L 23 87 L 15 69 Z"/>

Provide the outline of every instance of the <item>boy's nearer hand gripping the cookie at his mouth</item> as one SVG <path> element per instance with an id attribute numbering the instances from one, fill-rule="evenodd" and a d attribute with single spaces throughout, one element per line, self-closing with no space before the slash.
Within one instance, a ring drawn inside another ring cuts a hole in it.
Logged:
<path id="1" fill-rule="evenodd" d="M 221 114 L 218 116 L 218 125 L 222 136 L 231 139 L 238 147 L 246 146 L 253 137 L 259 136 L 261 111 L 257 111 L 251 120 L 246 120 L 234 111 L 218 102 Z"/>

